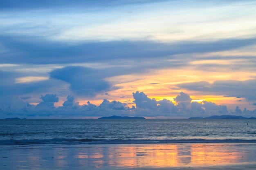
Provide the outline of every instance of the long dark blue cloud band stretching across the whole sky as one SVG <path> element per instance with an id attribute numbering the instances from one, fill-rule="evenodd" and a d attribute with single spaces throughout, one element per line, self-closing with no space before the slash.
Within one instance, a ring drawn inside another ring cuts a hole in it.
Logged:
<path id="1" fill-rule="evenodd" d="M 109 41 L 66 44 L 43 38 L 2 36 L 0 42 L 9 51 L 1 54 L 2 63 L 65 64 L 225 51 L 255 44 L 256 39 L 227 39 L 214 42 Z M 187 59 L 189 60 L 189 57 Z"/>

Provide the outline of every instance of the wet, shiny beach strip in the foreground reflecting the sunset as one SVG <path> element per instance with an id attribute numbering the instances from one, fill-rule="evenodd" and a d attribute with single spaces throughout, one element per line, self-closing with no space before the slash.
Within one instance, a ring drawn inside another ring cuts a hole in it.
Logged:
<path id="1" fill-rule="evenodd" d="M 254 143 L 0 146 L 1 170 L 253 170 Z"/>

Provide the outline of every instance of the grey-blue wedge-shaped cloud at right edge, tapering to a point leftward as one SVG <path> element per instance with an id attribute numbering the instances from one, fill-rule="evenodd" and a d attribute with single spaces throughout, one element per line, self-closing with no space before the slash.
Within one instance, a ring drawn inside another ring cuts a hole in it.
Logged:
<path id="1" fill-rule="evenodd" d="M 207 92 L 214 95 L 227 97 L 246 98 L 247 101 L 256 101 L 256 79 L 245 81 L 219 80 L 210 84 L 209 82 L 193 82 L 177 84 L 180 88 L 191 91 Z"/>

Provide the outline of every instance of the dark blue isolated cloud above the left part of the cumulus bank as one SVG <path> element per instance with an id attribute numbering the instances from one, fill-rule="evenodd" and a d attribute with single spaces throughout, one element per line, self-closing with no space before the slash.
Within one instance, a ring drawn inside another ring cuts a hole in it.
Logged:
<path id="1" fill-rule="evenodd" d="M 104 80 L 101 70 L 82 66 L 67 66 L 49 73 L 50 77 L 70 84 L 70 90 L 78 95 L 94 96 L 110 90 L 109 82 Z"/>

